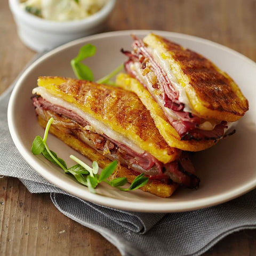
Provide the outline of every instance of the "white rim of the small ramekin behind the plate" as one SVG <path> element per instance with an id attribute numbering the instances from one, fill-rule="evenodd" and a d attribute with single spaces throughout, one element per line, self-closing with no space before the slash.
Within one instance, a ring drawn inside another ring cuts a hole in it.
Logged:
<path id="1" fill-rule="evenodd" d="M 47 19 L 42 19 L 36 17 L 23 10 L 20 7 L 19 0 L 9 0 L 10 9 L 14 17 L 19 17 L 22 21 L 29 23 L 31 26 L 39 28 L 47 28 L 48 30 L 65 30 L 69 28 L 85 28 L 85 26 L 92 26 L 100 23 L 105 19 L 110 12 L 114 9 L 116 0 L 108 0 L 108 2 L 103 5 L 103 7 L 91 16 L 81 19 L 81 20 L 71 20 L 71 21 L 52 21 Z"/>

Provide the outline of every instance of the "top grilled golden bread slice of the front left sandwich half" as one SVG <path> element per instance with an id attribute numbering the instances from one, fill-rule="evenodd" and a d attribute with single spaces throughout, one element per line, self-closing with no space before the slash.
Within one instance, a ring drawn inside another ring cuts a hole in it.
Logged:
<path id="1" fill-rule="evenodd" d="M 53 96 L 73 103 L 85 113 L 129 138 L 162 163 L 179 158 L 180 150 L 167 145 L 149 111 L 132 92 L 114 86 L 62 77 L 39 77 Z"/>

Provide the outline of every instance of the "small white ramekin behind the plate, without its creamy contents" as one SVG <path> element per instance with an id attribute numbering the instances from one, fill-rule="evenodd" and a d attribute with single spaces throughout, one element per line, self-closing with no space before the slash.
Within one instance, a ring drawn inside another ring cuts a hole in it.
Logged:
<path id="1" fill-rule="evenodd" d="M 76 21 L 50 21 L 23 10 L 19 0 L 9 0 L 10 9 L 23 43 L 41 52 L 53 49 L 77 38 L 100 32 L 116 0 L 109 2 L 92 16 Z"/>

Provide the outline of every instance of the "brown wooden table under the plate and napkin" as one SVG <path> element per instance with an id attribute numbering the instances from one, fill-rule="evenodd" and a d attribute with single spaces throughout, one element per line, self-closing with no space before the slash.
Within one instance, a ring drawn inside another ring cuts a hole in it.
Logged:
<path id="1" fill-rule="evenodd" d="M 106 31 L 175 31 L 256 61 L 255 14 L 255 0 L 117 0 Z M 2 93 L 35 54 L 20 41 L 7 0 L 0 1 L 0 35 Z M 49 194 L 30 194 L 18 179 L 0 179 L 0 223 L 0 255 L 120 255 L 97 232 L 60 213 Z M 256 255 L 256 230 L 231 234 L 206 255 Z"/>

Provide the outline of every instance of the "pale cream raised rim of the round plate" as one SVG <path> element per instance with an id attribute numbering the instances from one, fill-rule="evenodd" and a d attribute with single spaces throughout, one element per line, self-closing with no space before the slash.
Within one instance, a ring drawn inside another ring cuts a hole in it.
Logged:
<path id="1" fill-rule="evenodd" d="M 47 170 L 45 170 L 44 167 L 42 167 L 38 163 L 38 159 L 31 155 L 30 151 L 28 151 L 26 148 L 22 146 L 22 143 L 20 141 L 20 138 L 18 134 L 15 132 L 15 125 L 13 121 L 13 113 L 15 111 L 14 109 L 14 99 L 17 97 L 17 91 L 19 90 L 19 87 L 22 84 L 23 79 L 30 73 L 30 71 L 36 67 L 40 62 L 44 61 L 45 59 L 51 57 L 52 55 L 59 53 L 68 47 L 75 46 L 79 43 L 87 42 L 92 39 L 100 39 L 100 38 L 107 38 L 107 37 L 113 37 L 113 36 L 118 36 L 118 35 L 130 35 L 130 34 L 148 34 L 148 33 L 155 33 L 159 34 L 162 36 L 172 36 L 176 38 L 183 38 L 183 39 L 189 39 L 190 41 L 195 41 L 199 43 L 204 43 L 213 47 L 218 47 L 224 51 L 228 51 L 229 53 L 236 55 L 239 59 L 242 59 L 243 61 L 246 61 L 250 65 L 252 65 L 255 70 L 256 70 L 256 63 L 245 57 L 245 55 L 230 49 L 227 46 L 221 45 L 219 43 L 212 42 L 208 39 L 196 37 L 196 36 L 191 36 L 191 35 L 186 35 L 186 34 L 180 34 L 180 33 L 174 33 L 174 32 L 169 32 L 169 31 L 161 31 L 161 30 L 121 30 L 121 31 L 111 31 L 107 33 L 101 33 L 97 35 L 92 35 L 92 36 L 87 36 L 83 38 L 76 39 L 75 41 L 71 41 L 69 43 L 66 43 L 64 45 L 61 45 L 47 53 L 45 53 L 42 57 L 38 58 L 35 62 L 33 62 L 19 77 L 19 79 L 15 82 L 9 104 L 8 104 L 8 109 L 7 109 L 7 122 L 9 125 L 9 131 L 12 137 L 12 140 L 14 142 L 14 145 L 17 147 L 19 150 L 20 154 L 22 157 L 25 159 L 25 161 L 43 178 L 51 182 L 53 185 L 57 186 L 58 188 L 61 188 L 65 190 L 66 192 L 70 193 L 71 195 L 77 196 L 81 199 L 85 199 L 87 201 L 97 203 L 100 205 L 105 205 L 108 207 L 113 207 L 115 209 L 121 209 L 121 210 L 128 210 L 128 211 L 139 211 L 139 212 L 185 212 L 185 211 L 193 211 L 193 210 L 198 210 L 198 209 L 203 209 L 207 208 L 210 206 L 218 205 L 227 201 L 230 201 L 231 199 L 234 199 L 238 196 L 242 196 L 243 194 L 249 192 L 250 190 L 254 189 L 256 187 L 256 179 L 252 180 L 251 182 L 247 182 L 243 186 L 239 186 L 236 189 L 230 190 L 226 192 L 224 195 L 216 195 L 216 196 L 210 196 L 206 198 L 200 198 L 200 199 L 195 199 L 191 200 L 189 202 L 175 202 L 175 203 L 152 203 L 152 202 L 129 202 L 129 204 L 125 204 L 124 199 L 117 199 L 117 198 L 112 198 L 112 197 L 106 197 L 103 195 L 99 194 L 91 194 L 89 191 L 86 191 L 84 189 L 78 189 L 78 186 L 76 186 L 75 192 L 74 192 L 74 185 L 73 184 L 67 184 L 66 181 L 63 181 L 60 177 L 57 177 L 57 175 L 47 173 Z M 1 97 L 2 98 L 2 97 Z M 45 171 L 47 173 L 47 176 L 44 175 Z M 52 179 L 53 178 L 53 179 Z M 83 187 L 83 186 L 81 186 Z M 73 188 L 73 189 L 72 189 Z M 84 187 L 83 187 L 84 188 Z M 79 192 L 80 191 L 80 192 Z M 87 196 L 81 196 L 81 191 L 83 191 L 84 195 L 89 195 Z M 131 193 L 131 192 L 130 192 Z M 156 207 L 157 206 L 157 207 Z"/>

